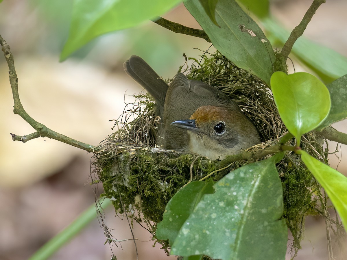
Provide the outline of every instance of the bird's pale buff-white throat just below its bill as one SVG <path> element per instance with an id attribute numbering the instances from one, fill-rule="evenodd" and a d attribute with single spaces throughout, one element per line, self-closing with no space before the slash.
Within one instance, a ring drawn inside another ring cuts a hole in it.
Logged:
<path id="1" fill-rule="evenodd" d="M 235 154 L 242 150 L 239 145 L 227 148 L 219 144 L 207 135 L 198 135 L 192 131 L 187 131 L 189 135 L 188 149 L 191 153 L 206 156 L 212 160 L 223 159 L 226 155 Z"/>

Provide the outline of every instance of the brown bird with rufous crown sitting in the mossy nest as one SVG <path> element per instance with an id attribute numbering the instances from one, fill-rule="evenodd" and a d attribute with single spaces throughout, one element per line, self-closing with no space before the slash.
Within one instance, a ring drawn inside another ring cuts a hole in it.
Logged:
<path id="1" fill-rule="evenodd" d="M 189 80 L 180 72 L 168 85 L 136 55 L 123 67 L 156 103 L 156 114 L 162 119 L 156 129 L 156 145 L 215 160 L 261 142 L 253 123 L 219 89 Z"/>

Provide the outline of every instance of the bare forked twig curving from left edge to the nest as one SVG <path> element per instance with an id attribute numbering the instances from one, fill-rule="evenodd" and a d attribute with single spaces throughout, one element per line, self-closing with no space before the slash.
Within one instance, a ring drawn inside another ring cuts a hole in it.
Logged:
<path id="1" fill-rule="evenodd" d="M 64 136 L 60 133 L 54 132 L 53 130 L 46 127 L 44 124 L 41 124 L 35 121 L 31 116 L 28 115 L 28 113 L 24 110 L 23 105 L 19 99 L 18 78 L 16 74 L 13 55 L 10 51 L 10 46 L 1 37 L 1 35 L 0 35 L 0 44 L 1 44 L 1 50 L 5 54 L 5 59 L 7 61 L 8 68 L 9 68 L 10 84 L 11 84 L 13 101 L 14 101 L 13 113 L 21 116 L 28 124 L 30 124 L 36 130 L 36 132 L 31 133 L 30 135 L 27 135 L 27 136 L 17 136 L 11 133 L 12 140 L 22 141 L 25 143 L 26 141 L 37 138 L 37 137 L 48 137 L 48 138 L 52 138 L 52 139 L 64 142 L 65 144 L 72 145 L 77 148 L 86 150 L 88 152 L 98 151 L 100 149 L 99 147 L 88 145 L 83 142 L 79 142 L 77 140 L 71 139 L 70 137 Z"/>

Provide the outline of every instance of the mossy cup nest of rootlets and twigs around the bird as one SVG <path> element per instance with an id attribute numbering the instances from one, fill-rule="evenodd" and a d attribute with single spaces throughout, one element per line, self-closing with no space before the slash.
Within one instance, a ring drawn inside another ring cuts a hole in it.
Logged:
<path id="1" fill-rule="evenodd" d="M 188 66 L 189 62 L 193 62 L 191 66 Z M 286 133 L 268 87 L 220 53 L 204 53 L 200 60 L 186 58 L 180 71 L 185 72 L 189 79 L 202 80 L 217 87 L 240 107 L 258 129 L 263 141 L 253 149 L 271 146 Z M 218 160 L 156 146 L 153 131 L 160 123 L 155 114 L 155 102 L 148 95 L 139 94 L 136 102 L 128 104 L 116 120 L 118 130 L 100 143 L 101 150 L 94 155 L 92 163 L 94 173 L 103 183 L 104 196 L 112 200 L 116 213 L 145 223 L 154 240 L 156 223 L 161 221 L 167 202 L 188 182 L 189 176 L 200 180 L 219 169 Z M 294 140 L 289 142 L 294 145 Z M 327 162 L 328 150 L 323 150 L 322 140 L 313 134 L 303 137 L 302 146 L 311 155 Z M 218 180 L 246 163 L 235 162 L 227 170 L 211 177 Z M 278 164 L 278 171 L 283 186 L 283 217 L 293 234 L 292 248 L 296 252 L 300 248 L 305 216 L 323 215 L 327 218 L 327 198 L 298 155 L 289 152 Z M 156 242 L 167 250 L 167 241 Z"/>

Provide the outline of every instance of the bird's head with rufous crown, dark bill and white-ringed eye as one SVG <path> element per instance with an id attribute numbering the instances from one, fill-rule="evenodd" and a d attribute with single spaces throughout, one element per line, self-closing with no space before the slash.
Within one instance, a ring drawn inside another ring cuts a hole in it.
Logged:
<path id="1" fill-rule="evenodd" d="M 171 123 L 188 130 L 188 149 L 211 159 L 235 154 L 260 142 L 254 125 L 242 112 L 227 107 L 201 106 L 188 120 Z"/>

